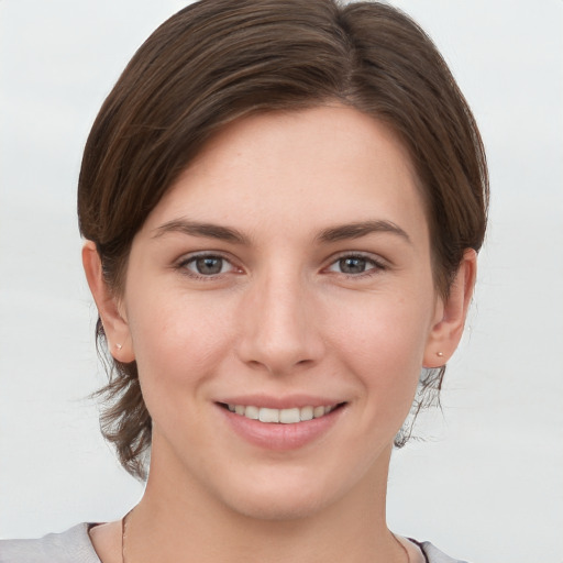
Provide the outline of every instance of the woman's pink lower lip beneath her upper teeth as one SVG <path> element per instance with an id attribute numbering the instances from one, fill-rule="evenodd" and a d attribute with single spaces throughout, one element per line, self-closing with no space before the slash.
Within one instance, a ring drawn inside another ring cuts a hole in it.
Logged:
<path id="1" fill-rule="evenodd" d="M 261 422 L 219 407 L 232 429 L 246 442 L 265 450 L 288 451 L 303 448 L 321 439 L 342 415 L 344 406 L 320 418 L 283 424 Z"/>

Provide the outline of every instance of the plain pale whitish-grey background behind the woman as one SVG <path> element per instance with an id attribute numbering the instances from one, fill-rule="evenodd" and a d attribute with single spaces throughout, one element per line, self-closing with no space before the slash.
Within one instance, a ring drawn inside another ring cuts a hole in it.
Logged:
<path id="1" fill-rule="evenodd" d="M 481 125 L 490 228 L 443 412 L 395 452 L 389 523 L 475 563 L 563 561 L 563 2 L 400 0 Z M 184 2 L 0 2 L 0 537 L 120 518 L 142 487 L 87 398 L 104 375 L 75 191 L 106 95 Z"/>

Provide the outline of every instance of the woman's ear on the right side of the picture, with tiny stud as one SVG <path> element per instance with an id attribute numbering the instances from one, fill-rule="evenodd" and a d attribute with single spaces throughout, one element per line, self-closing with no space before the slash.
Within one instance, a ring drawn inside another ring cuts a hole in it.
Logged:
<path id="1" fill-rule="evenodd" d="M 431 329 L 424 350 L 424 367 L 441 367 L 455 352 L 463 334 L 476 274 L 477 253 L 473 249 L 467 249 L 463 254 L 448 298 L 438 300 L 435 323 Z"/>

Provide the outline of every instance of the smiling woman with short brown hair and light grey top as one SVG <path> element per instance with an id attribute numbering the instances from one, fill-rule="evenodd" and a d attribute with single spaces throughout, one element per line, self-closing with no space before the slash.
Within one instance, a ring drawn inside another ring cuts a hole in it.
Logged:
<path id="1" fill-rule="evenodd" d="M 388 530 L 386 482 L 460 341 L 486 203 L 471 111 L 393 8 L 207 0 L 165 22 L 78 189 L 104 432 L 146 490 L 0 561 L 452 561 Z"/>

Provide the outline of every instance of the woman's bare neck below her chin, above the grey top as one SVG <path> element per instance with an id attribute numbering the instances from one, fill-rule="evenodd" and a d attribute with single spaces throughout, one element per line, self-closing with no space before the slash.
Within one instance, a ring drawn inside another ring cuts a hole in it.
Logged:
<path id="1" fill-rule="evenodd" d="M 145 495 L 129 517 L 126 563 L 402 562 L 404 549 L 385 521 L 389 455 L 390 449 L 382 455 L 383 474 L 371 470 L 331 505 L 275 519 L 235 511 L 199 484 L 170 479 L 169 467 L 165 473 L 153 464 Z"/>

